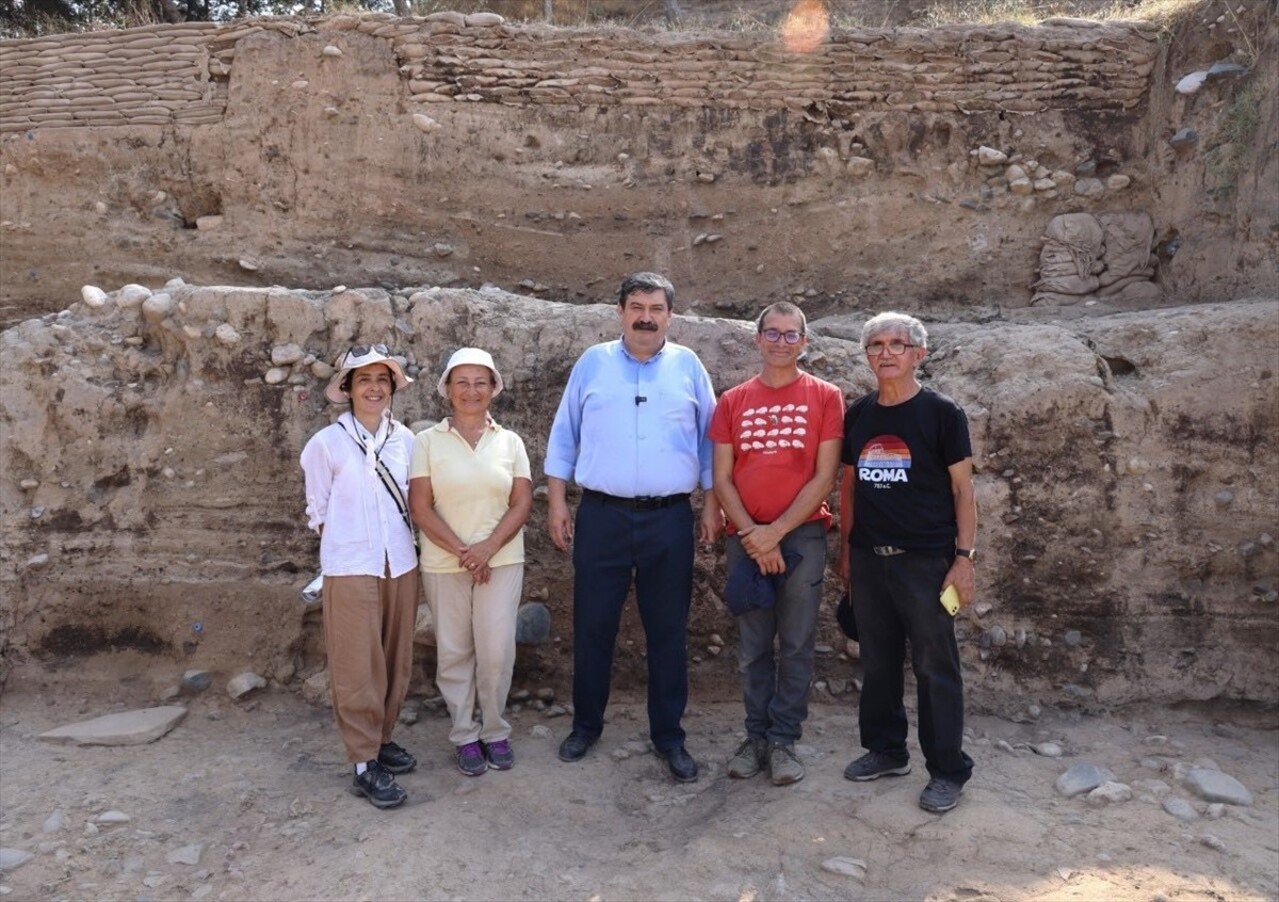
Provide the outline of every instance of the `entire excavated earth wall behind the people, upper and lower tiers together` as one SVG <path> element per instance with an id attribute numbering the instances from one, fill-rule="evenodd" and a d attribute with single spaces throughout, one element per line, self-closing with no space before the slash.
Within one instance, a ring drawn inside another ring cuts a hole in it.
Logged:
<path id="1" fill-rule="evenodd" d="M 990 606 L 959 631 L 981 704 L 1273 702 L 1276 40 L 1269 5 L 1239 26 L 799 52 L 440 14 L 0 42 L 0 674 L 136 647 L 166 674 L 310 676 L 317 362 L 394 344 L 422 376 L 396 411 L 425 421 L 448 353 L 491 349 L 540 475 L 572 361 L 616 328 L 596 302 L 656 269 L 719 390 L 765 302 L 804 307 L 807 366 L 849 397 L 870 313 L 929 320 L 927 377 L 977 445 Z M 1223 60 L 1243 64 L 1174 91 Z M 1071 212 L 1147 216 L 1154 293 L 1032 305 Z M 558 641 L 522 667 L 567 679 L 572 574 L 540 505 L 528 548 Z M 721 688 L 723 577 L 701 553 L 694 683 Z M 847 687 L 829 619 L 822 642 Z"/>

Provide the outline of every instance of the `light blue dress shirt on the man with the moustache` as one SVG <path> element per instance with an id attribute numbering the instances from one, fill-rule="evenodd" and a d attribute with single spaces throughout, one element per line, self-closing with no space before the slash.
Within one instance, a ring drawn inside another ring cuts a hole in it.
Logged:
<path id="1" fill-rule="evenodd" d="M 547 476 L 619 498 L 711 487 L 715 389 L 688 348 L 666 342 L 646 361 L 620 339 L 573 365 L 546 445 Z"/>

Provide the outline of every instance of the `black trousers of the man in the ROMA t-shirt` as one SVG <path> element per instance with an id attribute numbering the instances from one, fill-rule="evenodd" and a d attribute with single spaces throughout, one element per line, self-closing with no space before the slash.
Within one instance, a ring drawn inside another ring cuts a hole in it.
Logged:
<path id="1" fill-rule="evenodd" d="M 907 551 L 886 558 L 854 548 L 853 614 L 861 635 L 862 746 L 900 763 L 906 748 L 902 665 L 911 667 L 920 696 L 920 746 L 929 774 L 966 783 L 972 759 L 963 751 L 963 677 L 954 618 L 938 600 L 949 557 Z"/>

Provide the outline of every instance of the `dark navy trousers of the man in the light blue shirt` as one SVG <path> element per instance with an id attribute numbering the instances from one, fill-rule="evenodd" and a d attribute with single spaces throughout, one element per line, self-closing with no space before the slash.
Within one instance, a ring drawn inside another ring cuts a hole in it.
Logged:
<path id="1" fill-rule="evenodd" d="M 586 495 L 573 531 L 573 729 L 604 731 L 622 608 L 636 585 L 648 653 L 648 736 L 684 743 L 688 605 L 693 592 L 693 509 L 682 500 L 631 510 Z"/>

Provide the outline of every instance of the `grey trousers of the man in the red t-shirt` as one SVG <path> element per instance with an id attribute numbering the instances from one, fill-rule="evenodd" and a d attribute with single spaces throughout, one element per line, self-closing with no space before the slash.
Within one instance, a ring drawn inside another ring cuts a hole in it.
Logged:
<path id="1" fill-rule="evenodd" d="M 817 610 L 826 572 L 824 523 L 813 521 L 797 526 L 781 540 L 781 550 L 794 551 L 802 560 L 787 574 L 776 604 L 741 614 L 737 628 L 746 733 L 751 738 L 789 746 L 799 738 L 808 716 Z M 730 572 L 747 557 L 737 536 L 728 537 L 725 551 Z M 776 655 L 774 637 L 778 640 Z"/>

